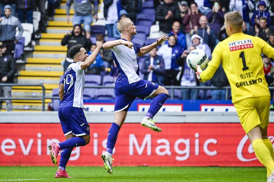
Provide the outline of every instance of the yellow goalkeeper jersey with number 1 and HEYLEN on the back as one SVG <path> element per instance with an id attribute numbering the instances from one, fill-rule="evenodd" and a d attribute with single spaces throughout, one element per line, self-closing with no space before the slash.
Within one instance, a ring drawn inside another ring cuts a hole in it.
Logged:
<path id="1" fill-rule="evenodd" d="M 262 39 L 244 33 L 232 34 L 216 45 L 200 78 L 202 81 L 211 79 L 222 63 L 233 103 L 249 97 L 269 96 L 261 53 L 274 58 L 274 49 Z"/>

